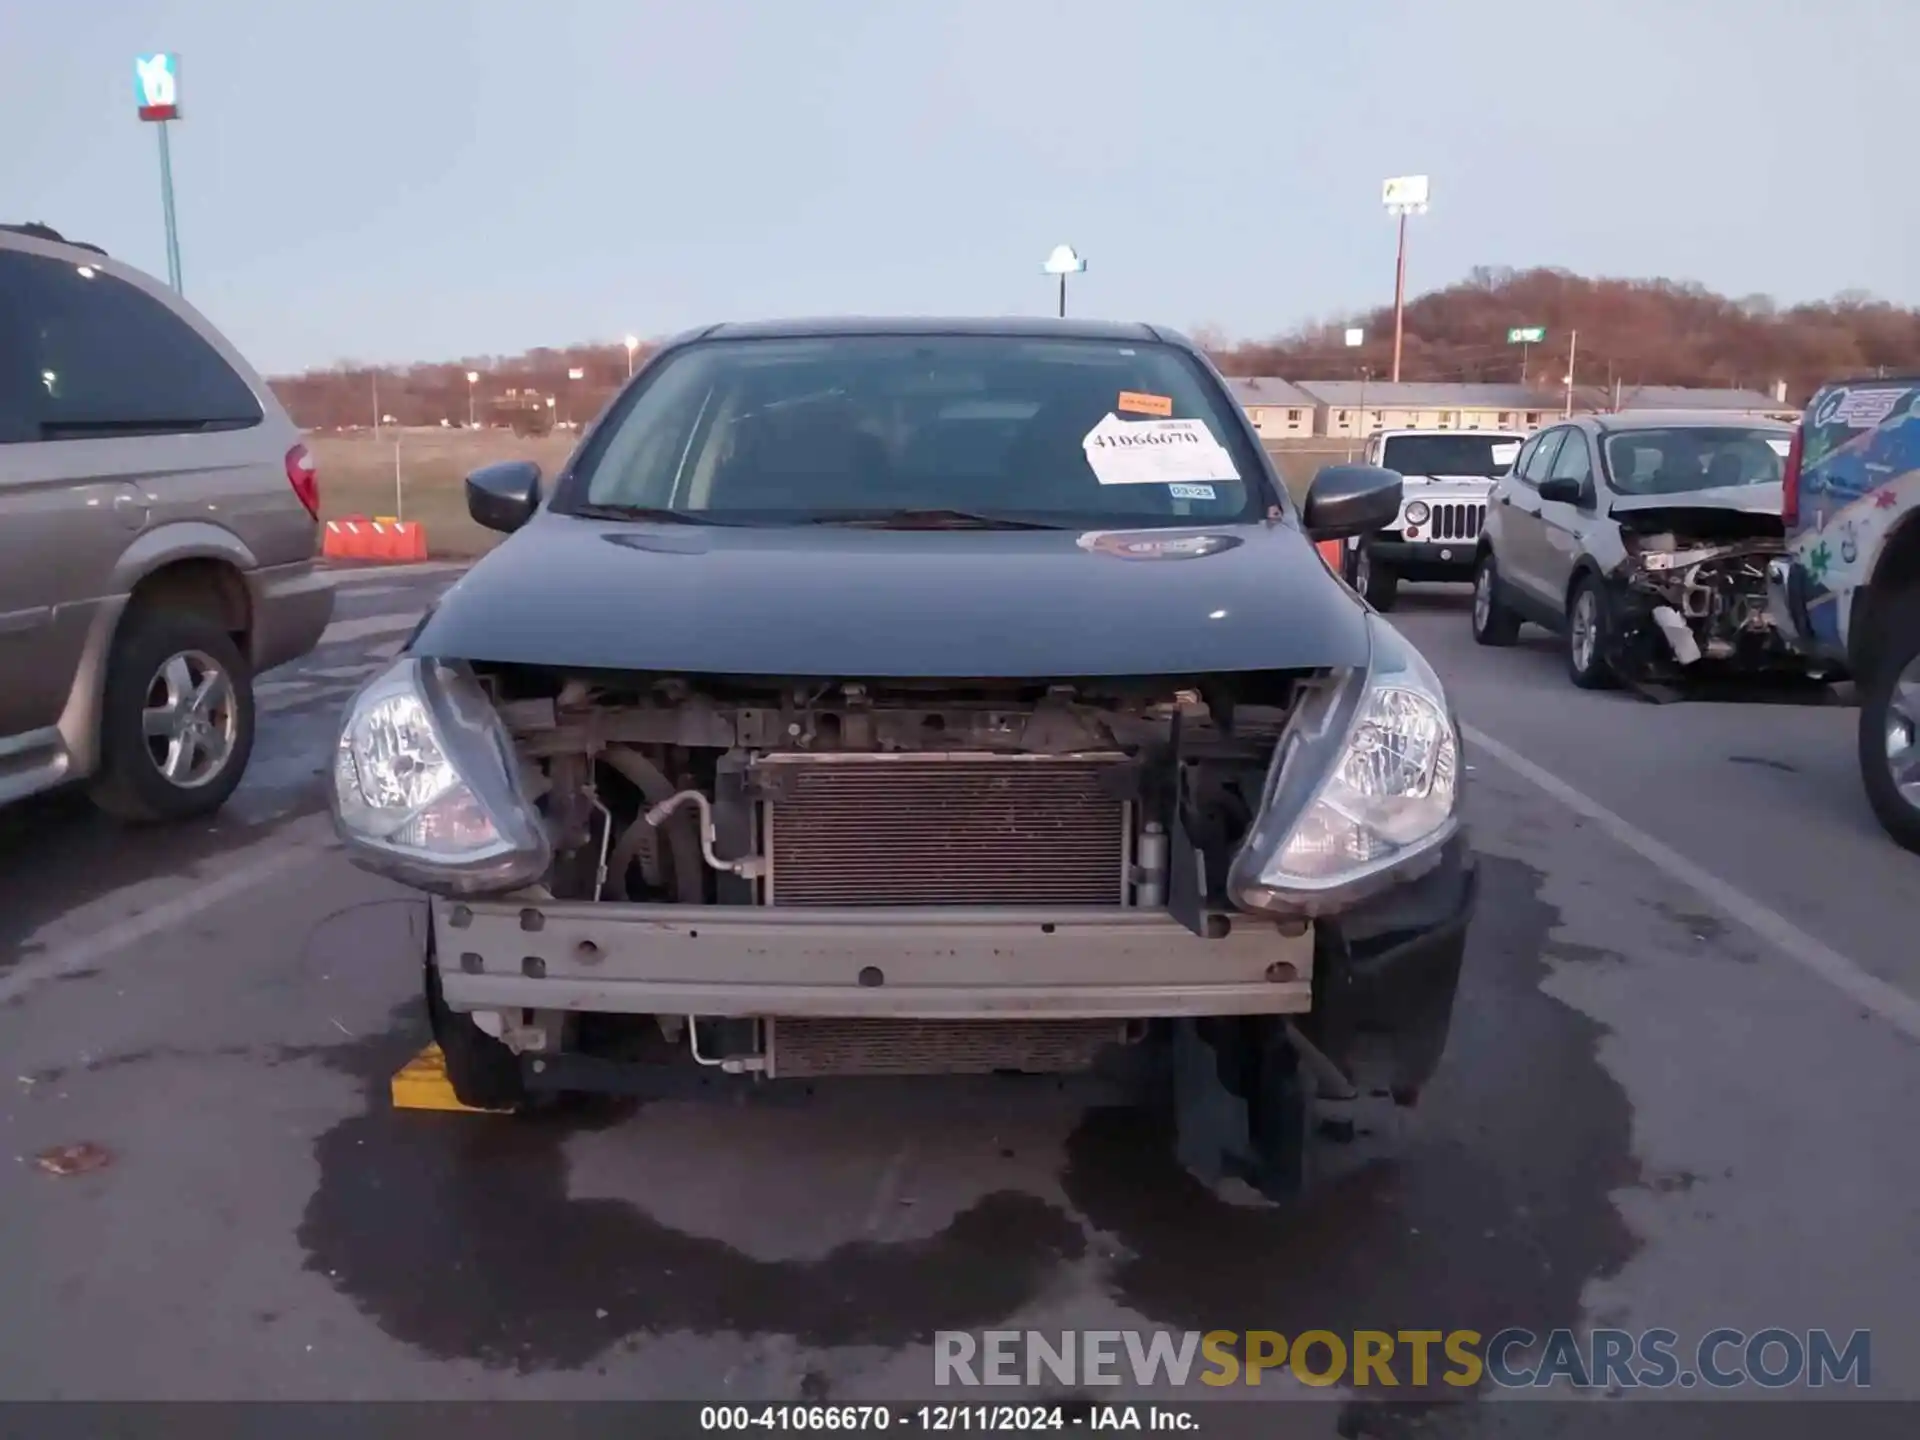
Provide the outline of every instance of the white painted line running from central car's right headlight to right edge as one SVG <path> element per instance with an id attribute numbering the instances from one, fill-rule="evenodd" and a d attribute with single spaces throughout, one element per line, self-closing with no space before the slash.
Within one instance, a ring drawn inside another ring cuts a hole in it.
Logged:
<path id="1" fill-rule="evenodd" d="M 1849 1000 L 1880 1016 L 1908 1039 L 1920 1041 L 1920 998 L 1914 998 L 1897 985 L 1889 985 L 1880 979 L 1880 975 L 1862 970 L 1832 945 L 1809 935 L 1778 910 L 1770 910 L 1745 891 L 1728 885 L 1713 872 L 1693 864 L 1680 854 L 1680 851 L 1653 839 L 1653 835 L 1620 818 L 1599 801 L 1576 791 L 1549 770 L 1542 770 L 1519 751 L 1501 745 L 1498 739 L 1475 730 L 1473 726 L 1461 726 L 1459 730 L 1467 737 L 1467 743 L 1484 751 L 1494 760 L 1500 760 L 1507 766 L 1507 770 L 1536 789 L 1546 791 L 1574 814 L 1582 814 L 1592 820 L 1655 870 L 1678 879 L 1682 885 L 1720 910 L 1728 920 L 1745 925 L 1763 941 L 1768 941 L 1807 973 L 1824 979 Z"/>

